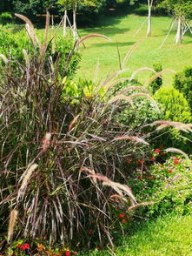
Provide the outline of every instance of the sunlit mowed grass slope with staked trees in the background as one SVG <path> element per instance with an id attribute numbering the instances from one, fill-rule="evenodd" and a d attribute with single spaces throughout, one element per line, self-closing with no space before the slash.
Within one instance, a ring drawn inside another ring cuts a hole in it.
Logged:
<path id="1" fill-rule="evenodd" d="M 153 64 L 157 63 L 162 64 L 163 69 L 169 68 L 175 71 L 182 71 L 185 66 L 192 64 L 192 37 L 190 34 L 184 37 L 183 44 L 175 45 L 175 30 L 173 30 L 162 49 L 159 49 L 168 33 L 171 19 L 169 17 L 152 17 L 152 37 L 145 37 L 147 23 L 136 35 L 136 31 L 145 19 L 146 16 L 136 14 L 103 17 L 100 27 L 79 30 L 82 37 L 88 34 L 102 34 L 112 41 L 89 38 L 85 42 L 86 48 L 81 47 L 83 60 L 76 77 L 93 78 L 96 64 L 99 64 L 99 78 L 104 78 L 119 70 L 117 45 L 122 60 L 133 44 L 139 40 L 141 40 L 141 43 L 129 57 L 129 62 L 126 64 L 128 71 L 122 75 L 124 77 L 142 67 L 153 67 Z M 140 74 L 140 81 L 144 82 L 149 76 L 149 72 Z M 164 84 L 172 83 L 173 75 L 166 74 L 163 77 Z"/>

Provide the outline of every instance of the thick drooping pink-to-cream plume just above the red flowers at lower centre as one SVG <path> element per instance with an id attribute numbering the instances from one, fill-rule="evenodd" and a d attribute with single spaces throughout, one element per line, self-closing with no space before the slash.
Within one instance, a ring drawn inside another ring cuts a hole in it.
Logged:
<path id="1" fill-rule="evenodd" d="M 128 195 L 129 198 L 136 204 L 136 198 L 134 197 L 128 185 L 122 185 L 118 182 L 114 182 L 108 179 L 106 176 L 103 176 L 102 174 L 99 173 L 89 174 L 88 177 L 96 178 L 103 181 L 103 185 L 108 185 L 112 187 L 120 196 L 123 196 L 123 193 Z"/>

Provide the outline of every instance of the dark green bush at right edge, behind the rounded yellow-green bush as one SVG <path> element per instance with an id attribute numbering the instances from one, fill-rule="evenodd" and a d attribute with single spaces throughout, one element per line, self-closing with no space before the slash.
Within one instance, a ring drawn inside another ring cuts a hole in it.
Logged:
<path id="1" fill-rule="evenodd" d="M 192 110 L 192 67 L 188 67 L 175 75 L 174 87 L 187 98 Z"/>

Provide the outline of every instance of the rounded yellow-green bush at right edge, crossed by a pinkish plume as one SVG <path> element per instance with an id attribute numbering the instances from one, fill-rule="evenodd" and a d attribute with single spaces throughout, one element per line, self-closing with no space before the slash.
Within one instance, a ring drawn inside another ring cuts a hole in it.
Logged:
<path id="1" fill-rule="evenodd" d="M 191 122 L 189 104 L 181 92 L 173 87 L 161 87 L 156 91 L 154 98 L 162 106 L 162 119 L 185 124 Z M 162 134 L 163 136 L 161 136 Z M 184 136 L 183 131 L 167 128 L 166 130 L 158 131 L 157 138 L 156 135 L 154 136 L 154 146 L 178 147 L 184 152 L 190 152 L 191 144 L 189 139 L 191 139 L 191 134 L 184 134 Z"/>

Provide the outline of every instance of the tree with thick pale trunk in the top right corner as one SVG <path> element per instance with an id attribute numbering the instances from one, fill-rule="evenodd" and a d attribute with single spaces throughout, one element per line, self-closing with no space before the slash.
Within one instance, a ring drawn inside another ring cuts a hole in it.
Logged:
<path id="1" fill-rule="evenodd" d="M 159 7 L 168 10 L 177 21 L 175 44 L 181 44 L 183 24 L 192 16 L 192 0 L 163 0 Z"/>

